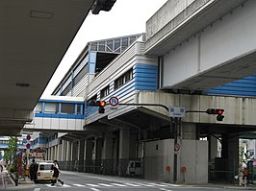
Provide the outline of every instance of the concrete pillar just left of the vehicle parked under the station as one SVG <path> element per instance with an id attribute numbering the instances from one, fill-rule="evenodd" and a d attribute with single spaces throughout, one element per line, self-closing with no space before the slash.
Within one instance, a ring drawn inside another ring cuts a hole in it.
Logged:
<path id="1" fill-rule="evenodd" d="M 130 158 L 130 130 L 122 129 L 119 134 L 118 176 L 124 176 Z"/>

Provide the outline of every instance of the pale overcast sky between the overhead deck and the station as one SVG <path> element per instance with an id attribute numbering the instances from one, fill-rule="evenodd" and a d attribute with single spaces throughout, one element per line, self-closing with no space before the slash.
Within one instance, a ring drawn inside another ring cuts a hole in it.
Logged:
<path id="1" fill-rule="evenodd" d="M 53 75 L 43 96 L 50 95 L 61 82 L 89 41 L 129 36 L 145 32 L 145 22 L 157 12 L 167 0 L 116 0 L 110 12 L 99 12 L 87 16 L 78 34 L 67 50 L 64 59 Z"/>

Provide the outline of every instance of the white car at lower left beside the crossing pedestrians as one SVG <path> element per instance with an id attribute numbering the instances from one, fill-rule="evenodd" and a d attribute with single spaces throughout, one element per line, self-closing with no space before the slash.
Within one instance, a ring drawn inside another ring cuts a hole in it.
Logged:
<path id="1" fill-rule="evenodd" d="M 53 165 L 52 161 L 38 162 L 38 172 L 37 172 L 37 178 L 35 179 L 35 183 L 37 183 L 38 181 L 50 181 L 52 179 L 52 175 L 53 175 L 52 165 Z"/>

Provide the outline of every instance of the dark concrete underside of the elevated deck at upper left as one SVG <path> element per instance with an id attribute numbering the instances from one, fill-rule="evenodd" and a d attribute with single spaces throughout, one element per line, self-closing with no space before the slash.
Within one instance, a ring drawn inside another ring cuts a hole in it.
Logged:
<path id="1" fill-rule="evenodd" d="M 0 135 L 16 133 L 49 83 L 94 0 L 0 2 Z"/>

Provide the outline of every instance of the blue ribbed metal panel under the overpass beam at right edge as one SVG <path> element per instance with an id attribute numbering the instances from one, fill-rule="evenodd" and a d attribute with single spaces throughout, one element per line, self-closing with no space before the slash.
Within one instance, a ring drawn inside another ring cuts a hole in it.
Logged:
<path id="1" fill-rule="evenodd" d="M 205 94 L 256 96 L 256 75 L 204 91 Z"/>

